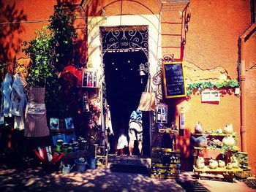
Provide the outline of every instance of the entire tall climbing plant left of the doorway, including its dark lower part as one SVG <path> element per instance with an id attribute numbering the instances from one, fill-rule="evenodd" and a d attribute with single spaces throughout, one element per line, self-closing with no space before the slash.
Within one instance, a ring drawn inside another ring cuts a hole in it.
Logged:
<path id="1" fill-rule="evenodd" d="M 70 110 L 74 104 L 70 104 L 69 99 L 73 92 L 68 93 L 67 82 L 57 76 L 58 72 L 72 61 L 74 55 L 77 34 L 72 26 L 73 21 L 69 9 L 57 7 L 50 16 L 50 24 L 41 31 L 36 31 L 36 37 L 30 42 L 23 42 L 23 52 L 29 55 L 32 61 L 26 80 L 31 87 L 45 86 L 48 117 L 67 118 L 72 116 L 74 111 Z"/>

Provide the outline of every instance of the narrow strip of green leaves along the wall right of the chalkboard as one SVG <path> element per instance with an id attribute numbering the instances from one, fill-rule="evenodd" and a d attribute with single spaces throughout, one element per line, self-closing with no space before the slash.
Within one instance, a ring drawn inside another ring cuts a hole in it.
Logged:
<path id="1" fill-rule="evenodd" d="M 187 95 L 189 96 L 190 94 L 193 93 L 194 90 L 202 90 L 204 88 L 225 88 L 225 87 L 231 87 L 235 88 L 238 87 L 239 83 L 237 80 L 224 80 L 220 82 L 211 82 L 211 81 L 201 81 L 201 82 L 192 82 L 187 86 Z"/>

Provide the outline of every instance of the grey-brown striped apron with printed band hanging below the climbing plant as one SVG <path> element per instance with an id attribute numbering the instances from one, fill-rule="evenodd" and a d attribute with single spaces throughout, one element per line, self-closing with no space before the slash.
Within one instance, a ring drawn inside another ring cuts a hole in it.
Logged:
<path id="1" fill-rule="evenodd" d="M 45 88 L 30 88 L 25 112 L 25 137 L 45 137 L 50 134 L 46 120 Z"/>

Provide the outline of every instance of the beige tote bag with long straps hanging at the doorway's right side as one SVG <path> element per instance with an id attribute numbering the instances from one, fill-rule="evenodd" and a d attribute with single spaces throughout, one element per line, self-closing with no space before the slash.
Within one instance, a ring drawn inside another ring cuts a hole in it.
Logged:
<path id="1" fill-rule="evenodd" d="M 154 92 L 151 92 L 151 90 L 151 75 L 149 74 L 145 92 L 143 92 L 140 97 L 140 104 L 138 107 L 140 111 L 156 110 L 156 95 Z"/>

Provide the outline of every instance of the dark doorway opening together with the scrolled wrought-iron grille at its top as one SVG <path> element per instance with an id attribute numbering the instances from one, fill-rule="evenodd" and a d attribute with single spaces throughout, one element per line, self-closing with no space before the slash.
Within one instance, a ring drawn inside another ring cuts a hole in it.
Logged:
<path id="1" fill-rule="evenodd" d="M 106 99 L 110 105 L 115 136 L 110 139 L 110 153 L 116 152 L 118 137 L 128 138 L 129 117 L 138 108 L 140 95 L 146 86 L 148 66 L 148 27 L 101 27 L 102 61 L 105 72 Z M 148 112 L 143 112 L 143 154 L 149 155 Z M 124 153 L 128 153 L 124 150 Z M 135 143 L 134 154 L 138 154 Z"/>

